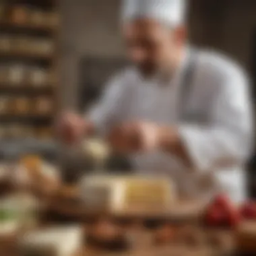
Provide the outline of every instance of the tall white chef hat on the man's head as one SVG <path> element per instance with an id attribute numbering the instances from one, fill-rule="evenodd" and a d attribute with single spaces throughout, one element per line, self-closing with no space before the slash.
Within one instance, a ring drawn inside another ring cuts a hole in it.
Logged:
<path id="1" fill-rule="evenodd" d="M 122 20 L 153 18 L 171 26 L 185 22 L 186 0 L 122 0 Z"/>

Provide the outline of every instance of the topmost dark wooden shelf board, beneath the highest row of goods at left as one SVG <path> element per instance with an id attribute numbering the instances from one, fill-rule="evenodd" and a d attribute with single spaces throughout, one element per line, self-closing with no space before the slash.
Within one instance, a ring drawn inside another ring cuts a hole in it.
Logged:
<path id="1" fill-rule="evenodd" d="M 55 33 L 58 30 L 58 26 L 49 26 L 46 24 L 15 24 L 8 21 L 0 21 L 0 28 L 13 29 L 13 30 L 31 30 L 35 32 L 47 32 Z"/>

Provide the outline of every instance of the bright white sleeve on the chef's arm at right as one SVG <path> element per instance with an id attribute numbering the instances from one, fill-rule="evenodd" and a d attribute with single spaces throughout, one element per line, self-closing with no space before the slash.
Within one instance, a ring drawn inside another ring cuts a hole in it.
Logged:
<path id="1" fill-rule="evenodd" d="M 240 72 L 225 75 L 211 125 L 183 125 L 180 134 L 196 170 L 243 164 L 253 140 L 248 81 Z"/>

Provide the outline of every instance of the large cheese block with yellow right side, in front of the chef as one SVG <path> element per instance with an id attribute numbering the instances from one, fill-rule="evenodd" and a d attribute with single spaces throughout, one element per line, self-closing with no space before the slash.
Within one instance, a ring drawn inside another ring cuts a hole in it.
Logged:
<path id="1" fill-rule="evenodd" d="M 94 210 L 163 210 L 175 200 L 171 181 L 157 177 L 92 176 L 83 179 L 80 195 Z"/>

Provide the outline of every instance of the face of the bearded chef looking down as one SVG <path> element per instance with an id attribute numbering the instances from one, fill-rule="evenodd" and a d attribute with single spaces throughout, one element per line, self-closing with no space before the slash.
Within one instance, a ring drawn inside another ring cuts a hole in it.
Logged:
<path id="1" fill-rule="evenodd" d="M 144 75 L 152 75 L 168 65 L 177 51 L 176 31 L 154 20 L 125 24 L 123 34 L 129 58 Z"/>

